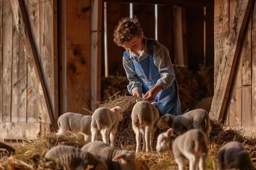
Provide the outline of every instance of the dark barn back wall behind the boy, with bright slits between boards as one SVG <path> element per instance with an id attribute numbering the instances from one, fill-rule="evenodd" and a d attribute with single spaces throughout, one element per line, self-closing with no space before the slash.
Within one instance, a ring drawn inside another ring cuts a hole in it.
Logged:
<path id="1" fill-rule="evenodd" d="M 207 12 L 204 17 L 204 7 L 185 6 L 186 30 L 184 33 L 189 57 L 189 68 L 198 69 L 199 64 L 213 65 L 213 1 L 207 2 Z M 158 41 L 169 50 L 171 61 L 174 58 L 174 30 L 173 30 L 173 7 L 170 5 L 158 5 Z M 108 39 L 108 75 L 122 75 L 122 57 L 124 48 L 118 47 L 113 42 L 113 33 L 118 21 L 123 17 L 129 17 L 129 3 L 106 3 L 107 15 L 107 39 Z M 103 14 L 104 15 L 104 14 Z M 133 15 L 136 15 L 143 27 L 144 36 L 155 38 L 155 6 L 154 4 L 133 4 Z M 206 20 L 206 58 L 204 59 L 204 20 Z M 104 30 L 104 29 L 102 29 Z M 103 38 L 103 37 L 102 37 Z M 104 51 L 104 50 L 102 50 Z M 104 71 L 104 52 L 102 53 L 102 75 Z"/>

